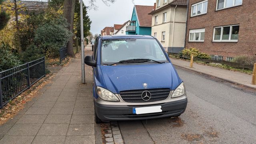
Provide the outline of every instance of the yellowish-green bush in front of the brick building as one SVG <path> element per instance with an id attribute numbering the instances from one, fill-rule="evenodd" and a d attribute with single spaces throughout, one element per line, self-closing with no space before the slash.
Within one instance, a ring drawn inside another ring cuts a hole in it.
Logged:
<path id="1" fill-rule="evenodd" d="M 190 56 L 191 54 L 193 54 L 193 56 L 195 58 L 202 58 L 202 59 L 210 59 L 210 55 L 203 53 L 203 52 L 199 52 L 198 49 L 196 48 L 185 48 L 184 50 L 182 50 L 182 54 L 186 55 L 186 56 Z"/>

